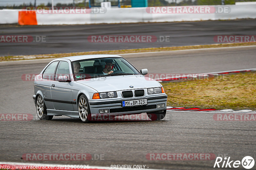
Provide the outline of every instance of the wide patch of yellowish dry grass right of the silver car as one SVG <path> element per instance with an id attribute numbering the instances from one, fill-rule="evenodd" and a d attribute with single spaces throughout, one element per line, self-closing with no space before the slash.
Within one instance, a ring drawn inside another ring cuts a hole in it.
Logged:
<path id="1" fill-rule="evenodd" d="M 167 106 L 256 110 L 256 72 L 162 85 L 168 95 Z"/>

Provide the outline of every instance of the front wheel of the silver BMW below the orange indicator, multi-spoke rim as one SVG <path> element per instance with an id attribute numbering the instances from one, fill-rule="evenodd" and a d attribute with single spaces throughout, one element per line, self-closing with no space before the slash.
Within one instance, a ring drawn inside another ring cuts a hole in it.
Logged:
<path id="1" fill-rule="evenodd" d="M 81 95 L 78 100 L 78 113 L 79 118 L 84 123 L 89 123 L 91 120 L 91 110 L 89 102 L 85 95 Z"/>

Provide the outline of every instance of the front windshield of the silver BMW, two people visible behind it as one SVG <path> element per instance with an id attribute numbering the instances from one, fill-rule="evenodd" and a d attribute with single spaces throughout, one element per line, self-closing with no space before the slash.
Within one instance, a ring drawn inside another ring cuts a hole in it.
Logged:
<path id="1" fill-rule="evenodd" d="M 72 62 L 75 80 L 117 75 L 133 75 L 140 72 L 121 57 L 87 59 Z"/>

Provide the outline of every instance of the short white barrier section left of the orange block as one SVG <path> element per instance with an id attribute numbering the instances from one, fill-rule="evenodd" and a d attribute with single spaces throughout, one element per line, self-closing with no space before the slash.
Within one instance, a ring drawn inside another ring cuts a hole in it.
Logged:
<path id="1" fill-rule="evenodd" d="M 0 10 L 0 24 L 17 24 L 20 10 Z"/>

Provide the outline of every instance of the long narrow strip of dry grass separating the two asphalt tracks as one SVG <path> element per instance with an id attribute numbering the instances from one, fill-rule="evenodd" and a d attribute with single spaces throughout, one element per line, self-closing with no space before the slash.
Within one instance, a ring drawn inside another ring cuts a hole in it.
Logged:
<path id="1" fill-rule="evenodd" d="M 0 57 L 0 61 L 61 58 L 61 57 L 68 57 L 68 56 L 75 56 L 75 55 L 87 55 L 87 54 L 124 54 L 124 53 L 140 53 L 140 52 L 152 52 L 152 51 L 172 51 L 172 50 L 186 50 L 186 49 L 199 49 L 199 48 L 216 48 L 216 47 L 230 47 L 230 46 L 250 46 L 250 45 L 256 45 L 256 42 L 251 42 L 251 43 L 209 44 L 209 45 L 196 45 L 196 46 L 173 46 L 173 47 L 138 48 L 138 49 L 125 49 L 125 50 L 89 51 L 89 52 L 56 53 L 56 54 L 41 54 L 41 55 L 3 56 L 3 57 Z"/>

